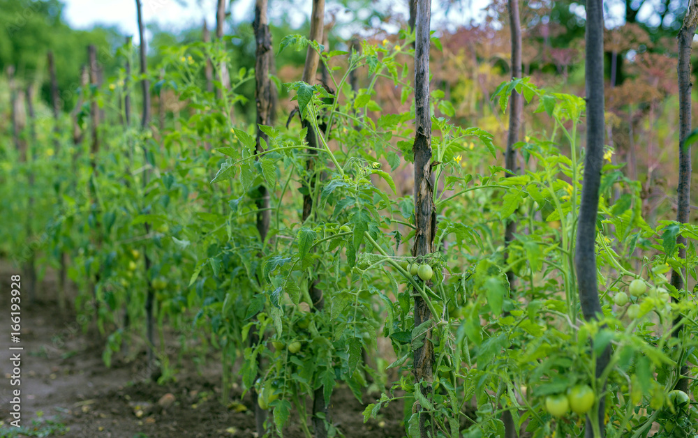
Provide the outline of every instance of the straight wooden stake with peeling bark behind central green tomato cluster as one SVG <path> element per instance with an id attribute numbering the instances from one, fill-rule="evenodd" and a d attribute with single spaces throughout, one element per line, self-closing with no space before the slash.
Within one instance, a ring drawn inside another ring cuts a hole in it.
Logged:
<path id="1" fill-rule="evenodd" d="M 431 26 L 431 0 L 417 0 L 416 40 L 415 40 L 415 142 L 412 146 L 415 155 L 415 243 L 413 257 L 433 252 L 436 234 L 436 209 L 433 204 L 431 183 L 431 116 L 429 115 L 429 29 Z M 429 307 L 420 296 L 415 296 L 415 327 L 431 319 Z M 426 333 L 424 344 L 415 349 L 414 372 L 417 382 L 415 391 L 422 391 L 424 397 L 431 394 L 434 352 L 430 342 L 431 329 Z M 426 386 L 422 386 L 422 383 Z M 417 403 L 417 409 L 422 406 Z M 427 427 L 430 423 L 430 427 Z M 422 413 L 419 416 L 419 434 L 422 438 L 436 436 L 433 418 Z"/>

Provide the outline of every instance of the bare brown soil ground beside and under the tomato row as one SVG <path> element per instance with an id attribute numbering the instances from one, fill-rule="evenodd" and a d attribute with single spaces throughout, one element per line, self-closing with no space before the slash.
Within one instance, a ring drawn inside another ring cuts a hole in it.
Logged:
<path id="1" fill-rule="evenodd" d="M 221 405 L 221 367 L 214 356 L 202 364 L 193 357 L 177 361 L 173 354 L 176 379 L 164 385 L 142 378 L 143 351 L 128 361 L 115 358 L 107 368 L 98 331 L 84 333 L 74 313 L 60 315 L 56 303 L 45 299 L 54 296 L 51 274 L 35 303 L 22 301 L 21 385 L 10 386 L 10 358 L 16 353 L 8 349 L 15 346 L 8 329 L 10 275 L 15 273 L 0 264 L 0 437 L 255 437 L 253 401 L 248 395 L 240 400 L 239 386 L 232 389 L 234 401 Z M 24 433 L 10 427 L 15 388 L 21 388 Z M 346 437 L 404 435 L 401 405 L 392 404 L 383 418 L 364 424 L 364 405 L 348 389 L 336 391 L 332 404 L 338 407 L 334 423 Z M 284 436 L 303 437 L 297 423 Z"/>

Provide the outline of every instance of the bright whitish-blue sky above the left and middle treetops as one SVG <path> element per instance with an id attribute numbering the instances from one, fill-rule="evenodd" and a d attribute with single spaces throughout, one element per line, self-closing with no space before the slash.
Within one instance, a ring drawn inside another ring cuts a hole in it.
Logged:
<path id="1" fill-rule="evenodd" d="M 138 24 L 136 22 L 135 0 L 63 0 L 66 8 L 64 17 L 68 24 L 79 29 L 89 29 L 95 24 L 115 25 L 126 35 L 133 35 L 133 40 L 138 44 Z M 284 2 L 281 0 L 270 1 L 269 19 L 273 22 L 274 16 L 288 13 L 292 24 L 302 24 L 311 14 L 312 2 L 310 0 L 295 0 L 290 3 L 290 8 L 280 8 Z M 391 7 L 395 12 L 407 15 L 406 0 L 383 1 L 383 5 Z M 471 18 L 482 16 L 482 8 L 487 6 L 489 0 L 466 0 L 462 3 L 466 6 L 455 7 L 445 11 L 439 1 L 433 2 L 432 29 L 436 29 L 445 21 L 453 23 L 466 23 Z M 157 23 L 163 29 L 176 31 L 193 26 L 201 26 L 204 18 L 209 23 L 209 29 L 216 23 L 216 0 L 142 0 L 143 16 L 146 24 Z M 232 4 L 231 16 L 236 22 L 251 21 L 253 19 L 254 0 L 236 0 Z M 331 6 L 328 5 L 328 9 Z M 351 11 L 337 10 L 341 20 L 342 15 L 347 20 L 352 17 Z M 368 12 L 368 11 L 364 11 Z M 396 31 L 397 29 L 395 29 Z"/>

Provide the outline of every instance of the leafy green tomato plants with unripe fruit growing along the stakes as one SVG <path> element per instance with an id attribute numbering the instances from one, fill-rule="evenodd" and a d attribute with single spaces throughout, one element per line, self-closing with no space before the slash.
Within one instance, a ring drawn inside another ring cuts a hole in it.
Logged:
<path id="1" fill-rule="evenodd" d="M 234 114 L 244 100 L 236 89 L 254 82 L 254 71 L 233 73 L 230 86 L 216 77 L 207 89 L 207 61 L 220 66 L 228 56 L 220 41 L 170 47 L 144 75 L 124 69 L 108 84 L 84 86 L 75 112 L 82 139 L 75 141 L 70 114 L 54 121 L 46 112 L 20 133 L 26 159 L 3 148 L 3 241 L 31 241 L 39 276 L 67 257 L 75 307 L 96 310 L 107 365 L 146 332 L 160 382 L 175 377 L 184 354 L 205 358 L 213 349 L 223 397 L 242 379 L 270 414 L 270 436 L 283 435 L 292 411 L 306 436 L 350 434 L 328 408 L 338 386 L 358 400 L 378 388 L 366 419 L 404 405 L 412 437 L 425 413 L 431 437 L 502 437 L 505 411 L 521 433 L 579 437 L 585 417 L 604 404 L 597 435 L 695 435 L 695 381 L 673 390 L 681 365 L 698 363 L 697 308 L 694 292 L 672 287 L 669 275 L 686 275 L 684 285 L 697 279 L 698 227 L 645 222 L 641 186 L 610 160 L 595 236 L 603 314 L 581 316 L 574 253 L 584 98 L 528 77 L 495 91 L 502 112 L 517 91 L 526 111 L 552 127 L 514 145 L 525 163 L 514 175 L 500 165 L 503 147 L 492 135 L 454 123 L 443 91 L 432 90 L 431 114 L 445 115 L 431 116 L 437 250 L 413 256 L 415 199 L 400 196 L 392 176 L 414 160 L 415 105 L 383 112 L 376 84 L 400 89 L 402 103 L 413 99 L 404 59 L 414 43 L 415 33 L 402 31 L 394 45 L 327 52 L 304 36 L 284 38 L 280 50 L 310 47 L 331 83 L 277 81 L 298 111 L 269 126 Z M 131 45 L 117 56 L 136 63 Z M 365 75 L 363 87 L 351 83 L 356 74 Z M 160 126 L 132 120 L 124 96 L 145 79 L 151 93 L 176 93 L 184 110 Z M 26 199 L 33 204 L 18 201 Z M 505 248 L 511 221 L 517 232 Z M 679 235 L 689 239 L 685 258 Z M 415 296 L 431 315 L 422 324 Z M 176 354 L 165 345 L 169 331 L 180 333 Z M 414 351 L 426 343 L 429 382 L 413 372 Z M 607 348 L 609 365 L 597 370 Z"/>

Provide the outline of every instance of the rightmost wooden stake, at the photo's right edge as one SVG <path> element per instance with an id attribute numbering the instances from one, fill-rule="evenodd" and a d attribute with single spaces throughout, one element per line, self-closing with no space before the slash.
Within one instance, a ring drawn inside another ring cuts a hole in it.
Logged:
<path id="1" fill-rule="evenodd" d="M 698 0 L 690 0 L 688 10 L 683 17 L 683 26 L 678 31 L 678 199 L 676 221 L 688 223 L 690 218 L 691 199 L 691 146 L 684 144 L 686 137 L 691 132 L 691 45 L 698 25 Z M 679 234 L 676 237 L 678 257 L 685 259 L 687 244 L 686 238 Z M 679 292 L 685 288 L 681 273 L 671 271 L 671 285 Z M 681 293 L 685 296 L 685 293 Z M 674 324 L 678 324 L 678 317 Z M 681 335 L 681 330 L 674 331 L 675 336 Z M 679 369 L 682 378 L 676 383 L 676 389 L 688 392 L 688 367 L 680 363 Z"/>

